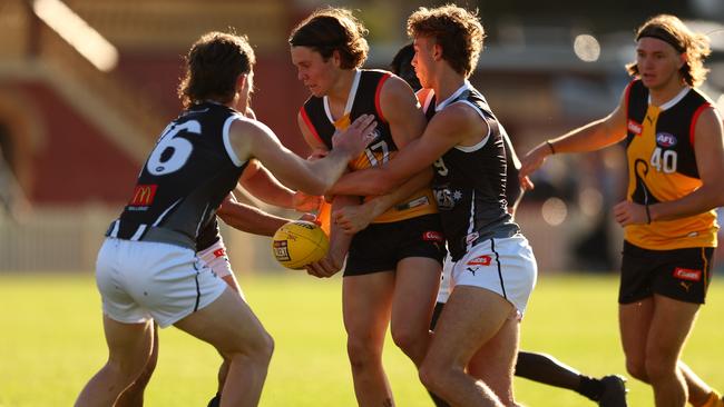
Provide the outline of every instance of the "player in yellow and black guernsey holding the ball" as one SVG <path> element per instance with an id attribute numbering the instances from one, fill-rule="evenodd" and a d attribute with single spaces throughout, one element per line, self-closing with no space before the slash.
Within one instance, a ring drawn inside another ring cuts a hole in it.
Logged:
<path id="1" fill-rule="evenodd" d="M 331 151 L 331 137 L 350 120 L 364 113 L 376 118 L 376 137 L 350 162 L 352 171 L 394 160 L 398 149 L 420 137 L 425 127 L 404 80 L 387 71 L 360 69 L 369 49 L 365 34 L 366 29 L 349 10 L 323 8 L 290 36 L 292 62 L 311 93 L 297 119 L 310 147 L 316 152 Z M 379 211 L 369 227 L 353 237 L 332 225 L 330 255 L 307 267 L 317 277 L 333 275 L 349 245 L 343 317 L 361 406 L 393 405 L 382 367 L 388 325 L 395 344 L 418 366 L 428 348 L 428 325 L 444 257 L 442 226 L 429 189 L 431 178 L 428 168 L 392 193 L 368 199 L 365 204 L 375 205 Z M 360 204 L 359 197 L 334 197 L 333 212 L 343 200 L 345 205 Z"/>

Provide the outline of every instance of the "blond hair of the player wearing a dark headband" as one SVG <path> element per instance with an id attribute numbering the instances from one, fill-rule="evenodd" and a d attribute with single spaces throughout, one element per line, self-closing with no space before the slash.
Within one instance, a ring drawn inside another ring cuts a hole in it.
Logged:
<path id="1" fill-rule="evenodd" d="M 706 34 L 693 32 L 682 20 L 671 14 L 658 14 L 648 19 L 636 30 L 636 41 L 644 37 L 657 38 L 667 42 L 678 53 L 686 53 L 686 62 L 679 69 L 684 82 L 697 87 L 706 79 L 708 69 L 704 68 L 704 59 L 712 53 L 710 38 Z M 638 64 L 626 66 L 630 76 L 638 76 Z"/>

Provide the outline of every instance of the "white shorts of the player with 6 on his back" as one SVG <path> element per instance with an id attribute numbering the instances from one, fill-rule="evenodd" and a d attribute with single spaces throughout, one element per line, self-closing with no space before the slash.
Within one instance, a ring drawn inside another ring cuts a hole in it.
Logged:
<path id="1" fill-rule="evenodd" d="M 96 261 L 102 309 L 125 324 L 175 324 L 216 300 L 227 285 L 180 246 L 106 238 Z"/>

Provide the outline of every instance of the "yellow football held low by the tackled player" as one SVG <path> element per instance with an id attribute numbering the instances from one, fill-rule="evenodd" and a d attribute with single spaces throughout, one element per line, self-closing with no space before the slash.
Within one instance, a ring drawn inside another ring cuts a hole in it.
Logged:
<path id="1" fill-rule="evenodd" d="M 321 260 L 329 249 L 330 240 L 324 230 L 305 220 L 294 220 L 282 226 L 272 239 L 274 258 L 291 269 L 301 269 Z"/>

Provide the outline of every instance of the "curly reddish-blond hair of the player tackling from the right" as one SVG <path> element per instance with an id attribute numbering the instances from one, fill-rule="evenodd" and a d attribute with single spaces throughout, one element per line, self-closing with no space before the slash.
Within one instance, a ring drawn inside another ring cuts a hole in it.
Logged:
<path id="1" fill-rule="evenodd" d="M 478 64 L 486 32 L 477 10 L 446 4 L 433 9 L 421 7 L 414 11 L 408 18 L 408 36 L 433 39 L 442 47 L 442 59 L 468 78 Z"/>

